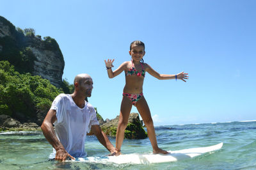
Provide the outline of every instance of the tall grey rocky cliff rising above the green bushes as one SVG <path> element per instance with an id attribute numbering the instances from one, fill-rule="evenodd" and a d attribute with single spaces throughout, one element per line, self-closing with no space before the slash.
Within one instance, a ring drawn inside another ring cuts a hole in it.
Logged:
<path id="1" fill-rule="evenodd" d="M 7 60 L 18 72 L 41 75 L 60 88 L 64 59 L 56 40 L 44 40 L 34 29 L 20 29 L 0 16 L 0 61 Z"/>

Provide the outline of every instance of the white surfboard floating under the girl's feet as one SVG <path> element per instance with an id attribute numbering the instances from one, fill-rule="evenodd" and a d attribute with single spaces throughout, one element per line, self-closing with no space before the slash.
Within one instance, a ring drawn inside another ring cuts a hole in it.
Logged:
<path id="1" fill-rule="evenodd" d="M 163 162 L 175 162 L 187 158 L 197 157 L 204 153 L 220 150 L 223 143 L 201 148 L 189 148 L 185 150 L 169 151 L 168 154 L 153 154 L 153 153 L 131 153 L 119 156 L 104 156 L 104 157 L 85 157 L 76 158 L 76 160 L 67 160 L 72 162 L 90 162 L 97 164 L 156 164 Z"/>

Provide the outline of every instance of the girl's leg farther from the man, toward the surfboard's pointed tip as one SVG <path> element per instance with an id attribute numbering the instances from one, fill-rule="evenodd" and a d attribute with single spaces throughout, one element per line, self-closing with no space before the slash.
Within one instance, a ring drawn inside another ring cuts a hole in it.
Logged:
<path id="1" fill-rule="evenodd" d="M 140 100 L 136 103 L 136 107 L 138 111 L 140 112 L 140 116 L 147 127 L 148 132 L 148 138 L 150 140 L 150 143 L 153 148 L 153 153 L 168 153 L 168 151 L 162 150 L 158 148 L 157 146 L 157 140 L 156 140 L 156 134 L 155 134 L 155 128 L 154 123 L 151 118 L 150 110 L 147 104 L 147 101 L 145 100 L 144 96 L 140 98 Z"/>

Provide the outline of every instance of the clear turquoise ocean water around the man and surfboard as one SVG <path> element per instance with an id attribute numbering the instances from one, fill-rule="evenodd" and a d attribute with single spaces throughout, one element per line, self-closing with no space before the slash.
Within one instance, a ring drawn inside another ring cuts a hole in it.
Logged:
<path id="1" fill-rule="evenodd" d="M 51 145 L 41 132 L 0 132 L 0 169 L 256 169 L 256 121 L 155 127 L 164 150 L 223 143 L 221 150 L 161 164 L 95 164 L 49 160 Z M 110 138 L 115 144 L 115 138 Z M 86 139 L 88 156 L 107 155 L 95 136 Z M 149 139 L 125 139 L 123 153 L 151 153 Z"/>

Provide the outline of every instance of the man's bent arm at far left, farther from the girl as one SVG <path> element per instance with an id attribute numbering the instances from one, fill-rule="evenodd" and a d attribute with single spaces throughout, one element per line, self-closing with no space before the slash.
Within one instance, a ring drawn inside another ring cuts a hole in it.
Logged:
<path id="1" fill-rule="evenodd" d="M 67 151 L 65 150 L 63 145 L 60 143 L 60 141 L 58 140 L 54 132 L 52 124 L 56 120 L 57 120 L 56 111 L 50 109 L 49 112 L 47 112 L 47 115 L 45 116 L 44 122 L 42 123 L 42 126 L 41 126 L 42 132 L 45 138 L 47 139 L 47 141 L 56 150 L 56 157 L 55 157 L 56 160 L 60 160 L 64 162 L 67 157 L 74 159 L 74 157 L 72 157 L 67 153 Z"/>

